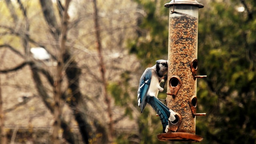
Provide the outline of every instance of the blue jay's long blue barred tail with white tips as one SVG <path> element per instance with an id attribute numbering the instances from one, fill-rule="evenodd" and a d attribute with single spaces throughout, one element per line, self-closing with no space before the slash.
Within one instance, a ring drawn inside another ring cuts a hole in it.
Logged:
<path id="1" fill-rule="evenodd" d="M 160 117 L 160 120 L 162 122 L 162 126 L 163 126 L 163 133 L 168 131 L 168 126 L 169 126 L 169 122 L 170 121 L 174 121 L 175 120 L 175 113 L 168 108 L 165 104 L 163 104 L 162 102 L 160 102 L 160 100 L 158 100 L 156 97 L 154 96 L 147 96 L 147 102 L 148 104 L 150 104 L 150 106 L 152 106 L 152 108 L 154 108 L 154 110 L 156 110 L 158 116 Z"/>

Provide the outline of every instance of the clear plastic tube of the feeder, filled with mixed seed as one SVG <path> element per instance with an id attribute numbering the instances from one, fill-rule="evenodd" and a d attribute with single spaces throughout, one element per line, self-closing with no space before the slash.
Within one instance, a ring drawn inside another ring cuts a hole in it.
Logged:
<path id="1" fill-rule="evenodd" d="M 172 5 L 169 10 L 167 92 L 176 86 L 175 80 L 170 80 L 172 76 L 178 76 L 182 84 L 176 96 L 167 96 L 167 106 L 182 117 L 176 132 L 195 134 L 196 118 L 190 108 L 190 98 L 196 96 L 196 80 L 190 62 L 197 58 L 198 6 Z"/>

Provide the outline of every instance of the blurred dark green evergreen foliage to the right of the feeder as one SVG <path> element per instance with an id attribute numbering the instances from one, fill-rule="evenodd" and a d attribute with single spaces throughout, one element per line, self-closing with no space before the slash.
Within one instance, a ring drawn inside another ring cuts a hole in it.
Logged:
<path id="1" fill-rule="evenodd" d="M 255 10 L 252 0 L 246 4 Z M 205 143 L 256 142 L 256 42 L 251 35 L 256 18 L 238 12 L 238 6 L 240 1 L 211 2 L 199 20 L 198 68 L 208 78 L 198 84 L 198 99 L 208 116 L 197 119 L 205 125 L 197 125 L 197 134 L 205 136 Z"/>

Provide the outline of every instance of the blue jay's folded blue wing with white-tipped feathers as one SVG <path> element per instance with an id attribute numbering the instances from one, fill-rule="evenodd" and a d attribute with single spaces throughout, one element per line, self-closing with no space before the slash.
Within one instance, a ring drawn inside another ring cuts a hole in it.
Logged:
<path id="1" fill-rule="evenodd" d="M 151 69 L 147 68 L 140 78 L 140 86 L 138 90 L 138 106 L 140 106 L 140 112 L 142 113 L 146 106 L 146 96 L 151 82 Z"/>

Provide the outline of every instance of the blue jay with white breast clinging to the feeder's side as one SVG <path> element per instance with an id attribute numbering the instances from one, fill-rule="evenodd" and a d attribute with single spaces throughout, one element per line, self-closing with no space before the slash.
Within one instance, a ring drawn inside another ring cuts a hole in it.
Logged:
<path id="1" fill-rule="evenodd" d="M 138 106 L 140 106 L 140 112 L 143 112 L 147 103 L 150 104 L 150 106 L 156 110 L 158 116 L 160 116 L 163 132 L 168 131 L 168 120 L 174 121 L 176 119 L 175 112 L 157 98 L 158 92 L 164 90 L 164 88 L 160 86 L 160 82 L 162 82 L 167 70 L 167 61 L 157 60 L 154 66 L 147 68 L 142 74 L 138 90 Z"/>

